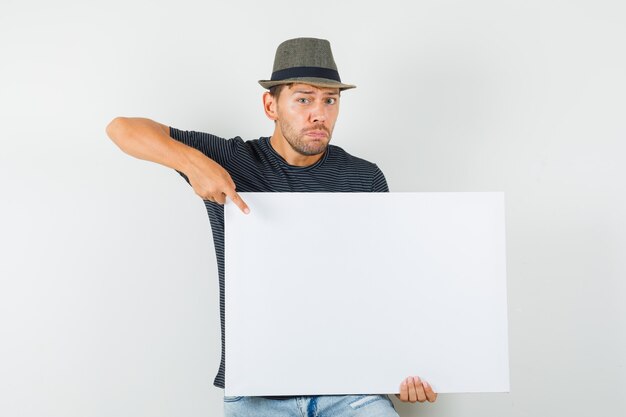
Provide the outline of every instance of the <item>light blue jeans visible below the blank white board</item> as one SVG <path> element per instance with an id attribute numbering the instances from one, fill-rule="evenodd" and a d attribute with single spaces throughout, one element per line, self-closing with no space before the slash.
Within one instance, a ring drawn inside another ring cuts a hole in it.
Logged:
<path id="1" fill-rule="evenodd" d="M 224 397 L 224 417 L 398 417 L 386 395 Z"/>

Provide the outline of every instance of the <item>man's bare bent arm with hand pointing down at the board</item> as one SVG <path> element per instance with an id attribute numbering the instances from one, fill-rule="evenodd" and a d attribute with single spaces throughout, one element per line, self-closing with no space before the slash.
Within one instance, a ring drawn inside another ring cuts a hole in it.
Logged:
<path id="1" fill-rule="evenodd" d="M 106 131 L 128 155 L 184 173 L 202 199 L 224 204 L 228 197 L 244 213 L 250 211 L 230 174 L 202 152 L 170 137 L 169 127 L 150 119 L 116 117 Z"/>

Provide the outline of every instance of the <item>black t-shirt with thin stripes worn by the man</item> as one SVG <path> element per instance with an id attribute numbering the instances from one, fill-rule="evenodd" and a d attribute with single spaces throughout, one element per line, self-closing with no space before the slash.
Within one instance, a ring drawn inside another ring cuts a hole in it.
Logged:
<path id="1" fill-rule="evenodd" d="M 382 171 L 375 164 L 352 156 L 338 146 L 329 145 L 315 164 L 297 167 L 287 164 L 272 148 L 268 137 L 244 142 L 240 137 L 226 140 L 172 127 L 170 135 L 224 167 L 235 182 L 237 192 L 389 191 Z M 224 388 L 224 207 L 210 201 L 205 201 L 204 205 L 213 231 L 220 286 L 222 359 L 213 384 Z"/>

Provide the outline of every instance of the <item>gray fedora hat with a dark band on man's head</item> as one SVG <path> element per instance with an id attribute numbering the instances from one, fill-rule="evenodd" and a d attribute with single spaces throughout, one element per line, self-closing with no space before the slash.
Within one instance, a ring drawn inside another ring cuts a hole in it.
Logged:
<path id="1" fill-rule="evenodd" d="M 289 39 L 278 45 L 272 78 L 259 81 L 264 88 L 291 83 L 340 90 L 356 87 L 341 82 L 333 52 L 330 50 L 330 42 L 315 38 Z"/>

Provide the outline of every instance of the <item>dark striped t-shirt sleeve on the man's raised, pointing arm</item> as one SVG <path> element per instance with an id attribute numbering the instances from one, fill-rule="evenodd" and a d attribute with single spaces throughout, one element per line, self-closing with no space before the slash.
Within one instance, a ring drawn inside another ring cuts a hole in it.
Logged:
<path id="1" fill-rule="evenodd" d="M 210 133 L 179 130 L 173 127 L 170 127 L 170 136 L 187 146 L 199 150 L 226 170 L 228 170 L 229 162 L 235 157 L 237 150 L 243 144 L 243 140 L 240 137 L 224 139 Z M 189 182 L 184 173 L 177 172 Z"/>

